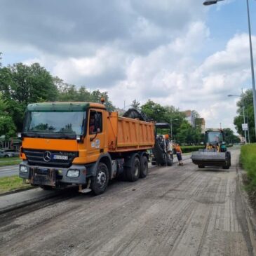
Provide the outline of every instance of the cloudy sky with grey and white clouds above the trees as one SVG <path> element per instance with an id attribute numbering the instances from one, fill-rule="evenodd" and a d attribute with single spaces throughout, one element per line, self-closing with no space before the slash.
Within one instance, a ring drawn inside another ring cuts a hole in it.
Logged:
<path id="1" fill-rule="evenodd" d="M 2 63 L 39 62 L 67 83 L 107 90 L 116 107 L 151 99 L 234 129 L 238 98 L 227 95 L 252 88 L 246 1 L 202 3 L 0 0 Z"/>

